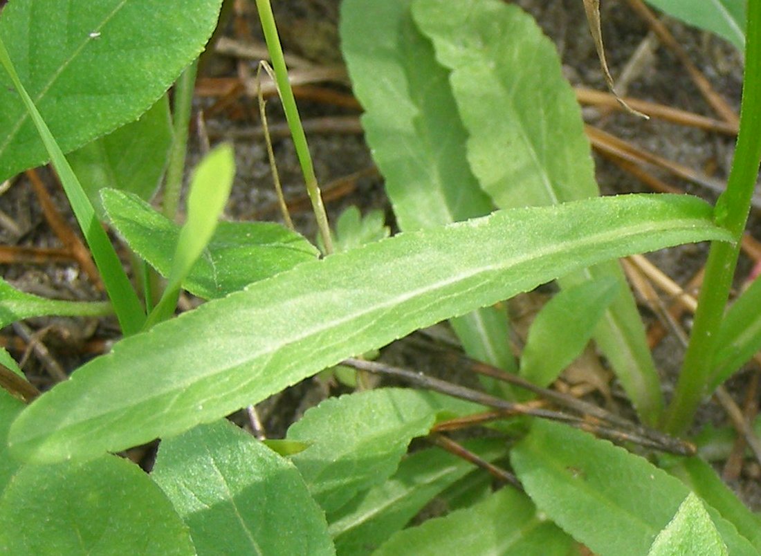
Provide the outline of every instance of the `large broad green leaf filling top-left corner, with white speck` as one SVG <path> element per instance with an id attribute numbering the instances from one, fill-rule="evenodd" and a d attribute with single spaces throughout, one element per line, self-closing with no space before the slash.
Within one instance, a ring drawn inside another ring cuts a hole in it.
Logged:
<path id="1" fill-rule="evenodd" d="M 212 34 L 221 0 L 13 0 L 0 38 L 62 151 L 132 122 Z M 46 149 L 0 75 L 0 180 L 44 164 Z"/>

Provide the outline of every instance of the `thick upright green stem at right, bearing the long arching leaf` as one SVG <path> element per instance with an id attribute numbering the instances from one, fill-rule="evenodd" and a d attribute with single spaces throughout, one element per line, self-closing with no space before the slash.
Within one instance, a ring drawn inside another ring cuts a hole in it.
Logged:
<path id="1" fill-rule="evenodd" d="M 745 76 L 737 135 L 727 190 L 714 209 L 715 223 L 726 228 L 734 243 L 714 242 L 705 265 L 693 333 L 684 357 L 677 389 L 664 423 L 667 431 L 679 434 L 692 424 L 695 411 L 707 392 L 713 370 L 718 328 L 734 278 L 740 237 L 745 229 L 753 188 L 761 161 L 761 0 L 749 0 L 745 45 Z"/>

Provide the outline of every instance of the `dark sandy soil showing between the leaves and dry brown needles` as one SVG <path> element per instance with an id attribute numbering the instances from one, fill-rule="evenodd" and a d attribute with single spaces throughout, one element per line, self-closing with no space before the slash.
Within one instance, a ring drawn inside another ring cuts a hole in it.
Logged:
<path id="1" fill-rule="evenodd" d="M 573 85 L 606 90 L 581 0 L 517 0 L 514 3 L 533 14 L 540 27 L 556 43 L 562 56 L 565 75 Z M 225 4 L 228 5 L 227 9 L 232 11 L 233 2 Z M 273 4 L 287 55 L 300 56 L 318 67 L 341 63 L 337 30 L 339 0 L 279 0 Z M 239 5 L 244 8 L 244 17 L 236 20 L 231 16 L 221 29 L 221 34 L 237 41 L 253 40 L 255 43 L 263 43 L 253 2 L 239 2 Z M 625 91 L 629 96 L 638 99 L 716 117 L 683 66 L 668 49 L 653 39 L 648 25 L 634 14 L 624 0 L 603 2 L 602 21 L 607 59 L 614 78 L 620 80 L 619 89 L 622 92 Z M 740 54 L 728 43 L 710 33 L 686 27 L 668 18 L 664 18 L 664 21 L 715 90 L 728 100 L 731 106 L 738 108 L 742 82 Z M 641 52 L 645 54 L 642 55 Z M 635 64 L 632 59 L 637 59 L 638 56 L 642 57 L 641 61 Z M 622 78 L 622 74 L 627 71 L 631 74 Z M 255 72 L 254 60 L 242 61 L 234 56 L 212 52 L 203 62 L 200 77 L 212 83 L 213 79 L 221 82 L 224 78 L 254 75 Z M 387 223 L 393 229 L 393 214 L 384 195 L 382 179 L 373 171 L 371 155 L 361 132 L 357 131 L 355 125 L 345 125 L 337 131 L 329 125 L 331 121 L 345 123 L 347 118 L 355 118 L 361 113 L 358 107 L 352 106 L 350 102 L 350 87 L 345 80 L 334 79 L 329 83 L 319 84 L 318 88 L 323 92 L 317 95 L 302 94 L 297 100 L 302 118 L 306 122 L 314 123 L 312 131 L 307 131 L 307 138 L 314 157 L 317 178 L 323 189 L 331 193 L 326 205 L 333 221 L 337 214 L 350 205 L 358 206 L 363 212 L 379 208 L 387 215 Z M 326 100 L 330 92 L 337 94 L 336 98 L 339 100 Z M 228 95 L 225 102 L 220 100 L 220 95 L 199 96 L 195 108 L 196 111 L 204 110 L 207 114 L 205 125 L 212 143 L 223 138 L 234 138 L 237 176 L 226 217 L 278 220 L 279 213 L 276 210 L 276 197 L 266 148 L 259 135 L 260 121 L 256 99 L 247 94 L 235 94 Z M 277 128 L 284 121 L 282 110 L 276 100 L 269 101 L 267 112 L 271 126 Z M 725 180 L 728 175 L 734 148 L 734 138 L 730 136 L 673 125 L 658 119 L 635 119 L 618 110 L 585 107 L 583 113 L 587 122 L 662 157 L 700 170 L 718 180 Z M 194 126 L 190 141 L 190 166 L 195 164 L 202 152 L 202 141 L 199 139 L 201 136 L 197 126 Z M 275 135 L 273 141 L 285 196 L 293 202 L 292 214 L 295 223 L 303 234 L 314 239 L 316 230 L 308 205 L 304 202 L 304 185 L 294 148 L 288 138 L 280 135 Z M 597 180 L 603 194 L 650 190 L 607 159 L 595 154 L 595 161 Z M 665 173 L 655 174 L 687 192 L 701 195 L 710 201 L 715 200 L 714 192 L 674 180 Z M 73 223 L 59 189 L 53 186 L 49 174 L 43 172 L 43 177 L 50 185 L 49 189 L 53 192 L 53 199 L 59 210 Z M 45 223 L 26 178 L 22 177 L 0 195 L 0 211 L 16 224 L 14 229 L 0 222 L 0 243 L 37 247 L 57 245 L 58 240 Z M 755 237 L 761 237 L 761 223 L 757 214 L 752 214 L 750 231 Z M 702 267 L 706 253 L 705 245 L 689 245 L 652 253 L 648 258 L 675 281 L 685 284 Z M 738 284 L 747 276 L 750 265 L 751 262 L 747 259 L 740 262 Z M 95 299 L 99 296 L 74 263 L 0 265 L 0 273 L 19 288 L 46 297 Z M 194 302 L 188 300 L 188 303 Z M 643 316 L 648 322 L 652 321 L 651 314 L 645 308 Z M 102 343 L 116 337 L 116 329 L 113 323 L 108 321 L 37 319 L 29 324 L 33 329 L 42 329 L 51 323 L 56 326 L 46 334 L 45 342 L 53 357 L 66 371 L 73 370 L 86 358 L 91 357 L 83 347 L 88 345 L 88 342 L 99 340 Z M 689 322 L 685 324 L 689 326 Z M 5 344 L 11 347 L 14 356 L 21 357 L 21 351 L 13 351 L 14 346 L 19 347 L 15 339 L 17 335 L 18 330 L 9 328 L 2 331 Z M 103 344 L 103 348 L 107 348 L 107 343 Z M 667 393 L 682 355 L 683 349 L 671 336 L 655 351 Z M 396 364 L 426 372 L 432 372 L 435 370 L 433 367 L 437 365 L 435 359 L 431 359 L 431 354 L 420 347 L 420 342 L 401 342 L 400 345 L 387 348 L 384 357 Z M 34 355 L 29 358 L 25 370 L 43 388 L 51 382 L 46 370 Z M 464 382 L 473 380 L 472 377 L 461 375 L 448 378 Z M 738 401 L 742 399 L 741 394 L 746 382 L 747 375 L 741 375 L 729 385 L 731 391 L 740 394 L 737 397 Z M 342 386 L 317 378 L 288 389 L 260 406 L 267 433 L 271 437 L 282 436 L 288 424 L 298 418 L 307 407 L 319 402 L 328 393 L 342 391 L 345 391 Z M 617 392 L 615 385 L 613 392 Z M 626 405 L 622 400 L 619 402 L 622 406 Z M 626 411 L 626 408 L 622 411 Z M 710 421 L 717 425 L 727 423 L 724 412 L 712 404 L 706 406 L 700 419 L 704 423 Z M 740 480 L 731 485 L 743 500 L 756 510 L 761 509 L 758 473 L 758 465 L 747 462 Z"/>

